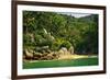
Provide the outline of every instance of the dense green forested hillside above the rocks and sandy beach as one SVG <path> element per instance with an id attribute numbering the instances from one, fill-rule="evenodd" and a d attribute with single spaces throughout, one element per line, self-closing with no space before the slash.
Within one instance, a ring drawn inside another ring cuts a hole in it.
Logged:
<path id="1" fill-rule="evenodd" d="M 97 55 L 98 15 L 75 18 L 59 12 L 23 11 L 24 55 L 54 53 L 53 57 L 57 57 L 63 47 L 70 54 Z"/>

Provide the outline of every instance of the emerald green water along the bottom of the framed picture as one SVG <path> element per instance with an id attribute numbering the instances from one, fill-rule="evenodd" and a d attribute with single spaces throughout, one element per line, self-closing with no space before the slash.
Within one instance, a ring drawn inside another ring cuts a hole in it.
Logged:
<path id="1" fill-rule="evenodd" d="M 98 57 L 78 58 L 78 59 L 61 59 L 61 60 L 40 60 L 40 61 L 24 61 L 23 69 L 33 68 L 54 68 L 54 67 L 78 67 L 78 66 L 96 66 L 98 65 Z"/>

